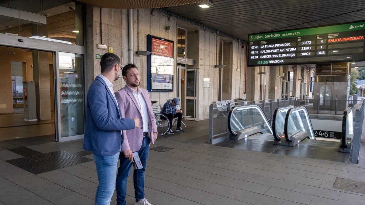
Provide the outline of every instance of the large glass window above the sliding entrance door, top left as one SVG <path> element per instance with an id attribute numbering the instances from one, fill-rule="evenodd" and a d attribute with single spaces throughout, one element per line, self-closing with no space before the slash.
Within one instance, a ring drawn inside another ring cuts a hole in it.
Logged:
<path id="1" fill-rule="evenodd" d="M 41 4 L 43 2 L 43 4 Z M 32 19 L 0 16 L 0 33 L 23 37 L 50 40 L 73 45 L 84 45 L 83 6 L 69 0 L 39 1 L 18 0 L 0 1 L 1 7 L 46 16 L 46 24 L 37 24 Z M 34 18 L 37 19 L 37 18 Z"/>

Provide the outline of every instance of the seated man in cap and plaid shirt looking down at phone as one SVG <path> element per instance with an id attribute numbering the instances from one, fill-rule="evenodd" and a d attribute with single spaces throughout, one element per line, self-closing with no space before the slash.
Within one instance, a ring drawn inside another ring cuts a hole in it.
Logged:
<path id="1" fill-rule="evenodd" d="M 179 102 L 179 98 L 175 97 L 172 100 L 167 100 L 167 102 L 165 102 L 164 106 L 161 109 L 161 114 L 164 114 L 168 117 L 169 121 L 170 121 L 170 125 L 172 128 L 172 120 L 175 117 L 177 118 L 177 126 L 176 126 L 176 132 L 184 132 L 184 129 L 182 129 L 181 126 L 181 119 L 183 118 L 183 114 L 180 110 L 176 110 L 176 105 L 180 105 Z M 173 135 L 175 134 L 172 129 L 170 129 L 167 134 Z"/>

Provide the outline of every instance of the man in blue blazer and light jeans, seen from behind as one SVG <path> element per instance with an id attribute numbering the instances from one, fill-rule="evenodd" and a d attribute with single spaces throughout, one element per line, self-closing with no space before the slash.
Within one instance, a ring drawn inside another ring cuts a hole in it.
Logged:
<path id="1" fill-rule="evenodd" d="M 86 102 L 84 150 L 92 151 L 99 186 L 95 205 L 109 205 L 115 189 L 116 170 L 123 143 L 123 130 L 139 127 L 139 119 L 122 118 L 113 90 L 118 80 L 120 59 L 105 53 L 100 60 L 101 74 L 91 84 Z"/>

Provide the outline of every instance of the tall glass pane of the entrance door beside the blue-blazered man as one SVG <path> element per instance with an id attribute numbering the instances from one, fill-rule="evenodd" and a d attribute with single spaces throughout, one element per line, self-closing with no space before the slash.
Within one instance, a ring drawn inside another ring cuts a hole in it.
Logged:
<path id="1" fill-rule="evenodd" d="M 84 57 L 58 52 L 61 137 L 84 134 Z"/>

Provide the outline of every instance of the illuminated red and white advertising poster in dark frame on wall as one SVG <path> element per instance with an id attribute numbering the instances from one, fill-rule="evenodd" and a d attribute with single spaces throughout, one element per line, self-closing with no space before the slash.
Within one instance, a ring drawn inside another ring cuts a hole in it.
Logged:
<path id="1" fill-rule="evenodd" d="M 147 35 L 147 90 L 149 92 L 174 91 L 174 42 Z"/>

